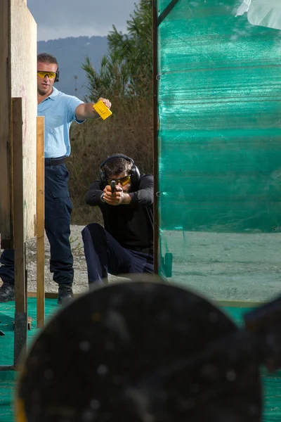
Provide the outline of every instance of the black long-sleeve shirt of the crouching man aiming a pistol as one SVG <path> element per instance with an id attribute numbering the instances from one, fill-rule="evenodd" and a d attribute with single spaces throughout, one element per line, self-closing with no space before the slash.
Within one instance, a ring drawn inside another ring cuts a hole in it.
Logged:
<path id="1" fill-rule="evenodd" d="M 108 205 L 100 200 L 103 191 L 100 181 L 91 184 L 86 193 L 86 203 L 98 206 L 103 214 L 105 230 L 123 248 L 143 250 L 153 248 L 153 177 L 141 174 L 136 191 L 131 193 L 128 205 Z"/>

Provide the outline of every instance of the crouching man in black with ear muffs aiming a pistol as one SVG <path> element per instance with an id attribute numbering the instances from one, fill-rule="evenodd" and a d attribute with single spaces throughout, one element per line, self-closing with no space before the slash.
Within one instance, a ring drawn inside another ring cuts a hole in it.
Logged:
<path id="1" fill-rule="evenodd" d="M 100 207 L 104 220 L 104 228 L 91 223 L 82 231 L 89 284 L 102 283 L 107 273 L 153 273 L 152 175 L 140 174 L 126 155 L 111 155 L 86 203 Z"/>

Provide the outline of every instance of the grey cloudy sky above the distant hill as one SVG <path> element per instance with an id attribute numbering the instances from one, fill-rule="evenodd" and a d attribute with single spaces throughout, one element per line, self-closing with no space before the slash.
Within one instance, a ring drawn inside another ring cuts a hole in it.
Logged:
<path id="1" fill-rule="evenodd" d="M 107 35 L 112 25 L 125 32 L 135 3 L 138 0 L 27 0 L 38 25 L 38 41 Z"/>

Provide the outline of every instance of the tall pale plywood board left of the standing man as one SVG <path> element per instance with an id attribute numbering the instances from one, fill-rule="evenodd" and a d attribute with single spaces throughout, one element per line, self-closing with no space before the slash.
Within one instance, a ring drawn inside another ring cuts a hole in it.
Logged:
<path id="1" fill-rule="evenodd" d="M 25 1 L 10 0 L 10 4 L 11 97 L 22 98 L 23 194 L 27 241 L 36 236 L 37 24 Z"/>

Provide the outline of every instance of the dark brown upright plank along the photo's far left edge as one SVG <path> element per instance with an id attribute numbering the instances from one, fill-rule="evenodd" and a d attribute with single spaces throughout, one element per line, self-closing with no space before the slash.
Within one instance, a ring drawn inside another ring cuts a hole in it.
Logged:
<path id="1" fill-rule="evenodd" d="M 12 248 L 11 220 L 11 60 L 9 0 L 0 1 L 0 234 L 1 248 Z"/>

